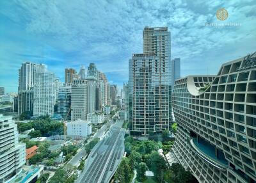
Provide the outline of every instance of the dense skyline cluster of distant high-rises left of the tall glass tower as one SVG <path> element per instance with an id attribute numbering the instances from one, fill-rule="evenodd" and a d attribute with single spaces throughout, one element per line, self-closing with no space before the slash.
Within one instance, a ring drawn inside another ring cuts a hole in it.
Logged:
<path id="1" fill-rule="evenodd" d="M 94 63 L 90 63 L 87 72 L 82 66 L 78 74 L 74 68 L 65 68 L 65 83 L 61 83 L 47 65 L 26 61 L 19 68 L 17 97 L 4 95 L 3 87 L 0 93 L 2 101 L 13 103 L 14 112 L 31 113 L 35 117 L 49 115 L 64 120 L 88 120 L 88 116 L 94 116 L 88 114 L 109 115 L 108 107 L 125 107 L 123 89 L 109 84 L 106 75 L 97 70 Z M 92 119 L 92 123 L 104 120 Z"/>

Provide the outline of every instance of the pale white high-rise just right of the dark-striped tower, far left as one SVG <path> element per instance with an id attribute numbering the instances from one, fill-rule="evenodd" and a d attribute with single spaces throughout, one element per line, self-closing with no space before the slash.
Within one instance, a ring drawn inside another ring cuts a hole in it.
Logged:
<path id="1" fill-rule="evenodd" d="M 44 64 L 36 65 L 34 81 L 33 115 L 53 115 L 54 104 L 56 103 L 54 73 L 47 70 Z"/>

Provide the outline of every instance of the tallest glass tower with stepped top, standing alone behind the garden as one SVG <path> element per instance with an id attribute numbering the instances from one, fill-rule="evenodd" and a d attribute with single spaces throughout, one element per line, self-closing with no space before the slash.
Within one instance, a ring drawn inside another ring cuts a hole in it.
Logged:
<path id="1" fill-rule="evenodd" d="M 169 129 L 172 122 L 171 42 L 168 28 L 143 31 L 143 54 L 129 61 L 129 87 L 132 88 L 131 134 Z M 132 81 L 131 81 L 132 79 Z"/>

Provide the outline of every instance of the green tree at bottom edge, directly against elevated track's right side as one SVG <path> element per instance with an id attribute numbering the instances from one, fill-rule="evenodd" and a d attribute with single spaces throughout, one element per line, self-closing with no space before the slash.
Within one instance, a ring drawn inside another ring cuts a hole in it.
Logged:
<path id="1" fill-rule="evenodd" d="M 131 175 L 132 170 L 129 165 L 129 159 L 127 159 L 127 157 L 124 157 L 121 163 L 118 165 L 114 179 L 122 183 L 129 182 L 129 180 L 131 179 Z"/>

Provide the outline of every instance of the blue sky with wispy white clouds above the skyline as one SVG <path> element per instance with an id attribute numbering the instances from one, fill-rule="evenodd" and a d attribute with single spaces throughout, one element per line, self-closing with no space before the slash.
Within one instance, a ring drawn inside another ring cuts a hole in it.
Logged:
<path id="1" fill-rule="evenodd" d="M 225 8 L 226 20 L 216 12 Z M 143 52 L 143 28 L 167 26 L 181 75 L 217 74 L 222 63 L 256 51 L 256 1 L 0 1 L 0 86 L 17 92 L 24 61 L 65 68 L 95 63 L 109 83 L 128 80 L 128 60 Z M 236 23 L 238 26 L 205 26 Z"/>

